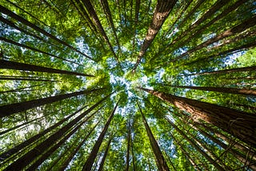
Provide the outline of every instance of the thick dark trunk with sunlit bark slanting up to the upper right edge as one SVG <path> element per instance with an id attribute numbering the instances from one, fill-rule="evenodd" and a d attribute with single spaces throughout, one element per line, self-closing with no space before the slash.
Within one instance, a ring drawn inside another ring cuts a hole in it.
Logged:
<path id="1" fill-rule="evenodd" d="M 175 62 L 178 59 L 181 59 L 181 58 L 185 57 L 186 55 L 192 54 L 196 50 L 200 50 L 200 49 L 202 49 L 206 46 L 209 46 L 210 44 L 212 44 L 214 42 L 218 42 L 218 41 L 222 40 L 223 38 L 227 38 L 227 37 L 230 37 L 234 34 L 241 33 L 242 31 L 244 31 L 244 30 L 246 30 L 246 29 L 248 29 L 252 26 L 255 26 L 255 24 L 256 24 L 256 15 L 254 15 L 253 17 L 251 17 L 249 19 L 246 19 L 246 21 L 243 21 L 242 23 L 238 24 L 237 26 L 234 26 L 231 29 L 224 31 L 221 34 L 218 34 L 214 38 L 210 38 L 206 42 L 202 42 L 200 45 L 194 47 L 191 50 L 186 51 L 185 53 L 183 53 L 183 54 L 179 55 L 178 57 L 172 59 L 170 62 Z"/>

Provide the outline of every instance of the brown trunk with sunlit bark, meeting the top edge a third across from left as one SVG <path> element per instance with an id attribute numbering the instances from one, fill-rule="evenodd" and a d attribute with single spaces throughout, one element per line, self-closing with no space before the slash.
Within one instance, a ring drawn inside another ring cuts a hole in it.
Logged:
<path id="1" fill-rule="evenodd" d="M 90 3 L 90 0 L 82 0 L 84 6 L 86 6 L 86 10 L 90 14 L 90 17 L 93 18 L 94 24 L 98 27 L 99 32 L 102 34 L 102 37 L 106 41 L 106 44 L 110 47 L 111 52 L 114 54 L 114 58 L 118 62 L 118 56 L 115 54 L 113 47 L 110 44 L 109 38 L 106 36 L 106 32 L 102 27 L 101 22 L 98 19 L 96 11 L 94 10 L 94 6 Z"/>

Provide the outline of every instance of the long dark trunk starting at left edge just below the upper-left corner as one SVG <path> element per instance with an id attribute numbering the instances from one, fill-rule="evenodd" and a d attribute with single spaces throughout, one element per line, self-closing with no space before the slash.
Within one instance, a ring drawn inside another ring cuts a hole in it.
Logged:
<path id="1" fill-rule="evenodd" d="M 0 12 L 2 12 L 3 14 L 9 15 L 11 18 L 16 19 L 18 22 L 22 22 L 24 25 L 29 26 L 30 28 L 38 31 L 41 34 L 44 34 L 46 37 L 48 38 L 52 38 L 54 39 L 54 41 L 62 44 L 63 46 L 67 46 L 69 47 L 71 50 L 74 50 L 75 52 L 82 54 L 83 56 L 85 56 L 86 58 L 89 58 L 90 60 L 94 60 L 93 58 L 90 58 L 89 56 L 87 56 L 86 54 L 83 54 L 81 51 L 75 49 L 73 46 L 70 46 L 69 44 L 67 44 L 66 42 L 63 42 L 62 40 L 60 40 L 59 38 L 54 37 L 54 35 L 49 34 L 48 32 L 46 32 L 46 30 L 42 30 L 41 28 L 39 28 L 38 26 L 35 26 L 32 22 L 27 21 L 25 18 L 22 18 L 21 16 L 19 16 L 18 14 L 14 14 L 12 11 L 6 9 L 6 7 L 1 6 L 0 5 Z"/>

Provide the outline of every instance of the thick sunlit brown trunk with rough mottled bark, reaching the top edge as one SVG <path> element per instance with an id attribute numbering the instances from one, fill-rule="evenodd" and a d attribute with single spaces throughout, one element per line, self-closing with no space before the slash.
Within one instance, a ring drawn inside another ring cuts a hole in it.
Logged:
<path id="1" fill-rule="evenodd" d="M 147 31 L 146 38 L 142 44 L 141 50 L 138 54 L 138 59 L 134 65 L 133 72 L 138 67 L 138 64 L 141 62 L 146 50 L 149 48 L 150 44 L 154 41 L 155 36 L 158 34 L 158 31 L 161 29 L 162 24 L 166 21 L 166 18 L 170 14 L 170 10 L 173 9 L 177 0 L 159 0 L 158 4 L 154 10 L 154 16 L 150 24 L 150 28 Z"/>

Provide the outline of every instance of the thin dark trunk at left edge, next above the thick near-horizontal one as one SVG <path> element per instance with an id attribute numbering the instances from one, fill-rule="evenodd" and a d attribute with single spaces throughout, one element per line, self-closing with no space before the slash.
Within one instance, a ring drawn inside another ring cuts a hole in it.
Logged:
<path id="1" fill-rule="evenodd" d="M 14 42 L 14 41 L 12 41 L 12 40 L 10 40 L 10 39 L 7 39 L 7 38 L 2 38 L 2 37 L 0 37 L 0 41 L 1 41 L 1 40 L 4 41 L 4 42 L 8 42 L 8 43 L 10 43 L 10 44 L 13 44 L 13 45 L 15 45 L 15 46 L 20 46 L 20 47 L 26 48 L 26 49 L 28 49 L 28 50 L 33 50 L 33 51 L 39 52 L 39 53 L 41 53 L 41 54 L 46 54 L 46 55 L 49 55 L 49 56 L 51 56 L 51 57 L 61 59 L 62 61 L 74 63 L 74 64 L 76 64 L 76 65 L 78 65 L 78 66 L 81 66 L 81 65 L 78 64 L 77 62 L 72 62 L 72 61 L 70 61 L 70 60 L 68 60 L 68 59 L 58 57 L 58 56 L 56 56 L 56 55 L 54 55 L 54 54 L 50 54 L 50 53 L 45 52 L 45 51 L 42 51 L 42 50 L 38 50 L 38 49 L 36 49 L 36 48 L 34 48 L 34 47 L 30 47 L 30 46 L 26 46 L 26 45 L 21 44 L 21 43 L 18 43 L 18 42 Z"/>

